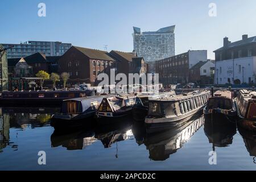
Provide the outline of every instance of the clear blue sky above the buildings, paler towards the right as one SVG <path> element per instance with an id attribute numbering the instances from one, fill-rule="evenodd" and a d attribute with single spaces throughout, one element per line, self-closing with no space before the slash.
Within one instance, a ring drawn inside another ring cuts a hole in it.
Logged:
<path id="1" fill-rule="evenodd" d="M 46 3 L 46 17 L 38 4 Z M 209 3 L 217 17 L 209 17 Z M 142 31 L 176 25 L 176 54 L 188 49 L 212 51 L 228 36 L 256 36 L 255 0 L 9 0 L 0 6 L 0 43 L 47 40 L 74 46 L 133 51 L 133 26 Z"/>

